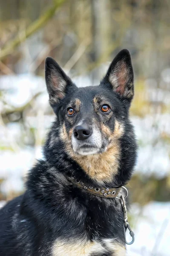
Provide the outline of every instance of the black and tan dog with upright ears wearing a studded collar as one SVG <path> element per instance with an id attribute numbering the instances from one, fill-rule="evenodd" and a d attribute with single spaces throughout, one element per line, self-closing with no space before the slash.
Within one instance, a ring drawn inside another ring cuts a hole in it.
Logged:
<path id="1" fill-rule="evenodd" d="M 130 52 L 116 55 L 98 86 L 76 87 L 50 57 L 45 79 L 56 119 L 25 192 L 0 210 L 0 256 L 124 256 L 118 197 L 137 154 Z"/>

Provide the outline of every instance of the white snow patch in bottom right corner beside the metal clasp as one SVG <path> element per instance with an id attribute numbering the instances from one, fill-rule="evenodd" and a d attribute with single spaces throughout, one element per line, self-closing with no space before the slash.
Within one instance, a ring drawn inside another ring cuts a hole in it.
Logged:
<path id="1" fill-rule="evenodd" d="M 133 204 L 135 242 L 127 245 L 129 256 L 170 255 L 170 202 L 151 202 L 141 208 Z"/>

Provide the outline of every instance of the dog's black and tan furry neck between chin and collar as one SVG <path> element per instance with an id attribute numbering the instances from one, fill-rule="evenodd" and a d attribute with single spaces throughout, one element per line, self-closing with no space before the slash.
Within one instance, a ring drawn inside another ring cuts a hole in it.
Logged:
<path id="1" fill-rule="evenodd" d="M 60 139 L 59 128 L 56 127 L 57 122 L 54 123 L 55 129 L 49 133 L 44 146 L 46 162 L 50 166 L 95 186 L 118 187 L 130 180 L 135 164 L 136 145 L 135 141 L 134 145 L 129 143 L 128 133 L 127 141 L 120 141 L 118 147 L 117 141 L 113 140 L 113 144 L 102 154 L 72 156 L 68 153 L 71 150 L 66 149 Z"/>

